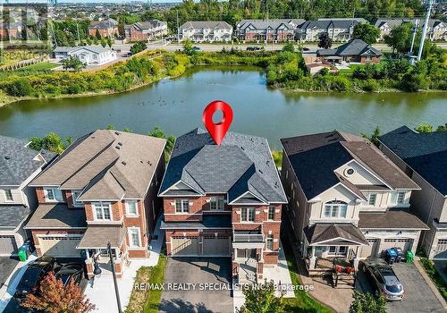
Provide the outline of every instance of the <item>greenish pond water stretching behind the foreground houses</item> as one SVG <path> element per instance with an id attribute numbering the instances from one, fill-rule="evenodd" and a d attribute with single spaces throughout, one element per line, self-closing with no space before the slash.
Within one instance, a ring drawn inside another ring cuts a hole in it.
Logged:
<path id="1" fill-rule="evenodd" d="M 407 124 L 446 122 L 446 93 L 337 94 L 298 93 L 266 88 L 256 67 L 210 66 L 189 69 L 124 94 L 32 100 L 0 108 L 0 133 L 29 138 L 56 131 L 80 136 L 114 124 L 147 133 L 160 126 L 180 135 L 201 126 L 205 106 L 215 99 L 230 103 L 232 131 L 265 136 L 271 146 L 296 134 L 339 129 L 354 133 L 383 131 Z"/>

